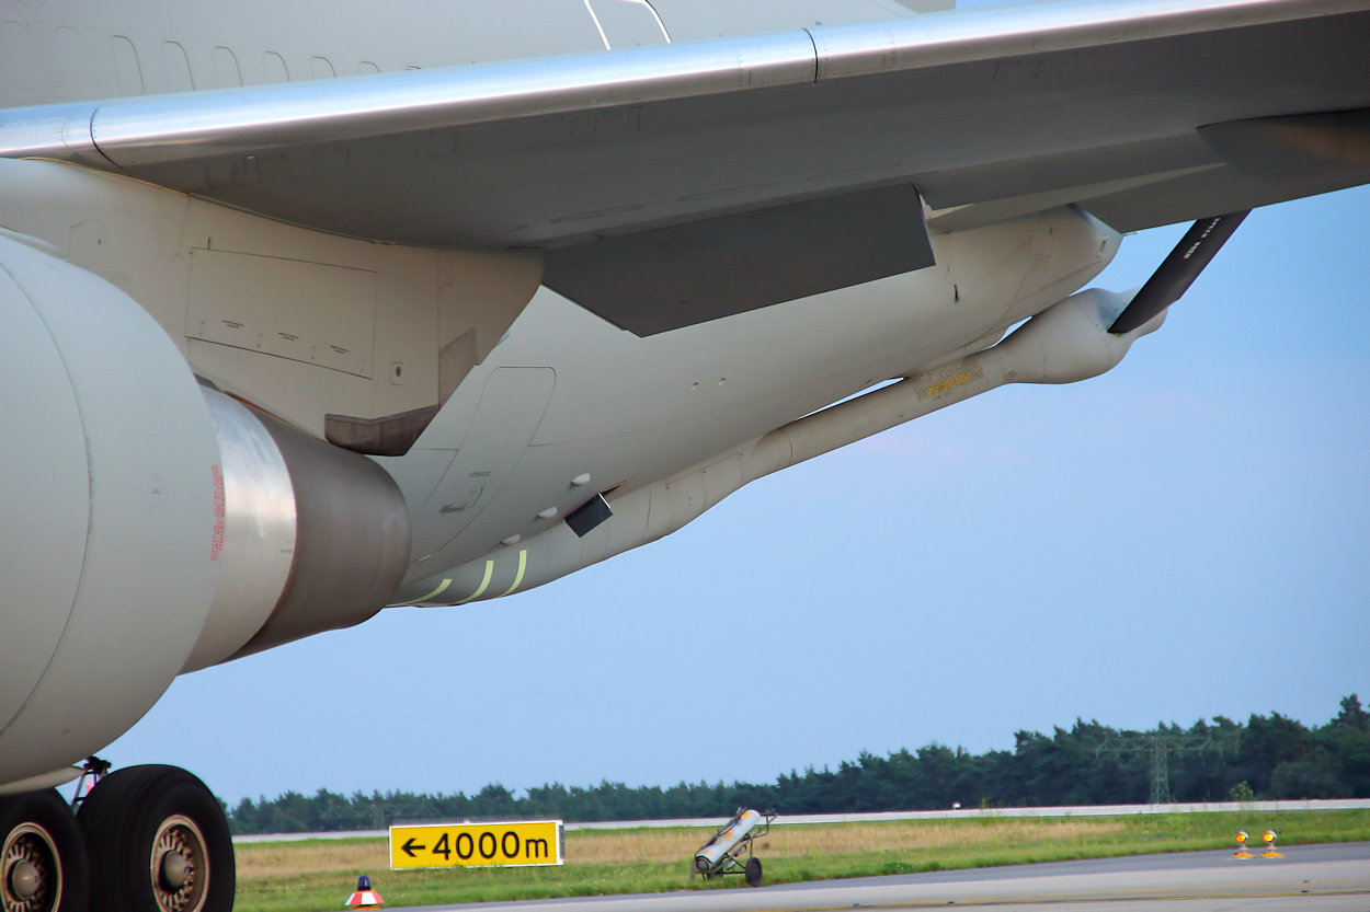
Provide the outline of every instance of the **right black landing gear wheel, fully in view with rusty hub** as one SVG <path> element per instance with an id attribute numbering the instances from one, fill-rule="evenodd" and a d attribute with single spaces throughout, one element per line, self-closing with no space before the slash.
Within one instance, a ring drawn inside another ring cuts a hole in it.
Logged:
<path id="1" fill-rule="evenodd" d="M 229 822 L 218 798 L 185 770 L 147 765 L 112 772 L 81 804 L 77 822 L 101 909 L 232 911 Z"/>

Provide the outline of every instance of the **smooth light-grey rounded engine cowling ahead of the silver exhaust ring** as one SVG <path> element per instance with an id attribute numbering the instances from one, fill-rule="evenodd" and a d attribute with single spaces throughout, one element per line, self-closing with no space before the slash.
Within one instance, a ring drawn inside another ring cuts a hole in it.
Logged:
<path id="1" fill-rule="evenodd" d="M 127 730 L 181 671 L 210 611 L 204 398 L 123 292 L 0 237 L 0 783 Z M 118 340 L 118 344 L 112 344 Z"/>

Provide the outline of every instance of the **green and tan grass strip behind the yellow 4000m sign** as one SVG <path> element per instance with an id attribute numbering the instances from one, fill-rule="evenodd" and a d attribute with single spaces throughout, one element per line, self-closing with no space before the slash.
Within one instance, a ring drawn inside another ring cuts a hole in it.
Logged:
<path id="1" fill-rule="evenodd" d="M 1173 813 L 1125 818 L 907 820 L 777 824 L 756 841 L 766 883 L 911 874 L 1154 852 L 1236 848 L 1267 827 L 1281 850 L 1370 839 L 1370 811 Z M 386 841 L 310 839 L 237 846 L 237 912 L 338 909 L 367 874 L 386 907 L 612 893 L 747 889 L 740 876 L 689 876 L 711 830 L 577 830 L 566 864 L 548 868 L 390 871 Z"/>

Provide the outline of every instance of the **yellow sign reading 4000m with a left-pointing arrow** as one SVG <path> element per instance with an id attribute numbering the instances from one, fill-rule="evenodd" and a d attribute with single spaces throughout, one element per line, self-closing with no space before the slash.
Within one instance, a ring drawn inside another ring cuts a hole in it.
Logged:
<path id="1" fill-rule="evenodd" d="M 390 870 L 562 864 L 560 820 L 390 827 Z"/>

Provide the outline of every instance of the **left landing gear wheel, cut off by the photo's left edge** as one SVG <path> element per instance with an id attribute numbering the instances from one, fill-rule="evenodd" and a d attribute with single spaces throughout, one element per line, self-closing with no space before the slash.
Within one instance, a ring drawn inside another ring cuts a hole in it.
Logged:
<path id="1" fill-rule="evenodd" d="M 86 853 L 53 790 L 0 798 L 0 909 L 86 912 Z"/>

